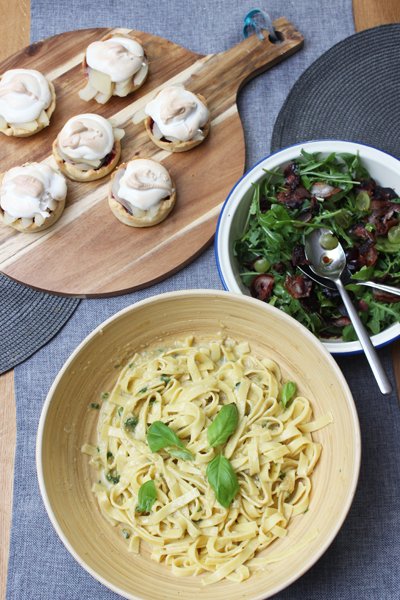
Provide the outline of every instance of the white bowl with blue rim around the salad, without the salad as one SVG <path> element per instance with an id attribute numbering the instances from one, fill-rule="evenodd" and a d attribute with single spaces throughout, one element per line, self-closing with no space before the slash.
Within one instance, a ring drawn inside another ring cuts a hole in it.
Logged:
<path id="1" fill-rule="evenodd" d="M 241 281 L 239 265 L 234 256 L 234 243 L 241 237 L 246 224 L 250 204 L 253 197 L 253 184 L 265 176 L 265 169 L 272 170 L 284 167 L 287 163 L 306 152 L 320 152 L 328 155 L 331 152 L 359 154 L 371 177 L 382 187 L 391 187 L 400 194 L 400 161 L 372 146 L 357 142 L 338 140 L 318 140 L 303 142 L 289 146 L 263 158 L 252 167 L 236 183 L 227 197 L 219 217 L 215 237 L 215 257 L 222 284 L 226 290 L 250 296 L 250 291 Z M 400 323 L 387 327 L 379 334 L 372 336 L 375 347 L 385 346 L 400 337 Z M 343 342 L 341 340 L 322 340 L 326 349 L 332 354 L 358 354 L 362 352 L 359 341 Z"/>

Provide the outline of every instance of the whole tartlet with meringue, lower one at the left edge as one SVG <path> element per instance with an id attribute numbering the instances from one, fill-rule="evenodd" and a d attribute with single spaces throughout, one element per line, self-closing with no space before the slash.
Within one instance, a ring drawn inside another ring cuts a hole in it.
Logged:
<path id="1" fill-rule="evenodd" d="M 0 220 L 18 231 L 47 229 L 61 216 L 67 195 L 64 176 L 44 163 L 26 163 L 0 179 Z"/>

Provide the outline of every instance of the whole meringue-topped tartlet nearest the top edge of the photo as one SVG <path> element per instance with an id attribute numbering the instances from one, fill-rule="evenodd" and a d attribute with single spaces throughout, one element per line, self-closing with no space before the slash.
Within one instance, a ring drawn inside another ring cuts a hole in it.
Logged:
<path id="1" fill-rule="evenodd" d="M 121 33 L 108 34 L 86 49 L 83 71 L 88 82 L 79 96 L 100 104 L 111 96 L 125 97 L 143 85 L 148 70 L 146 55 L 137 40 Z"/>

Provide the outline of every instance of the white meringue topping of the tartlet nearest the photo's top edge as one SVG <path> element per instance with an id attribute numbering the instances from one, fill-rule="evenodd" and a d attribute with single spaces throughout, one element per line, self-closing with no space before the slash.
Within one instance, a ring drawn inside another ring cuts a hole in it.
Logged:
<path id="1" fill-rule="evenodd" d="M 86 50 L 86 62 L 117 83 L 130 79 L 139 71 L 144 65 L 144 51 L 135 40 L 116 36 L 90 44 Z"/>

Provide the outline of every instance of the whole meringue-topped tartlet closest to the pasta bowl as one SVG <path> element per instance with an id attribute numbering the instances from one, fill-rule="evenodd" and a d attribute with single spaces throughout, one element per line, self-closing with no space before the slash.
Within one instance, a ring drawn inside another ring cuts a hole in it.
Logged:
<path id="1" fill-rule="evenodd" d="M 160 163 L 134 158 L 122 163 L 111 178 L 108 204 L 130 227 L 151 227 L 167 218 L 176 202 L 174 183 Z"/>

